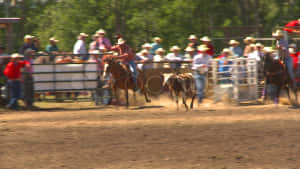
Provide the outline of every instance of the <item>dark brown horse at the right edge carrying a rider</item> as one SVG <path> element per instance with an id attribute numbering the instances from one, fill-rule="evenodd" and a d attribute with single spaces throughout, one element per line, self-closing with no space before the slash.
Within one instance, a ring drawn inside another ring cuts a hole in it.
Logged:
<path id="1" fill-rule="evenodd" d="M 294 85 L 293 80 L 290 78 L 288 71 L 280 60 L 275 60 L 271 53 L 267 53 L 263 59 L 263 72 L 265 81 L 265 97 L 264 101 L 267 100 L 268 92 L 266 90 L 268 84 L 273 84 L 277 87 L 275 93 L 275 103 L 279 103 L 279 96 L 281 89 L 285 89 L 289 102 L 292 105 L 298 104 L 297 87 Z M 295 95 L 296 102 L 292 102 L 290 97 L 290 89 Z"/>

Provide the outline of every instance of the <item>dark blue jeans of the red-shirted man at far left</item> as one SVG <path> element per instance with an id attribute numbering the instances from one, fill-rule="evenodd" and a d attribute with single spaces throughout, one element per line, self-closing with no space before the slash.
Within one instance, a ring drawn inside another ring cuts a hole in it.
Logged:
<path id="1" fill-rule="evenodd" d="M 18 100 L 21 98 L 21 82 L 19 80 L 8 80 L 10 99 L 8 107 L 18 109 Z"/>

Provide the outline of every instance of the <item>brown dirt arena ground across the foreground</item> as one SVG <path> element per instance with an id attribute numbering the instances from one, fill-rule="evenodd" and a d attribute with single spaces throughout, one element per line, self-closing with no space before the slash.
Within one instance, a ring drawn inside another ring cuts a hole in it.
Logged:
<path id="1" fill-rule="evenodd" d="M 300 168 L 300 109 L 288 105 L 91 104 L 1 110 L 0 169 Z"/>

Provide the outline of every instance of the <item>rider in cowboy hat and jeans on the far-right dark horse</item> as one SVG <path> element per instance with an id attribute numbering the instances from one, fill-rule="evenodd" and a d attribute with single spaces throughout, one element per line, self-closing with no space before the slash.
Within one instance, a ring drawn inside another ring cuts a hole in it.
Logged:
<path id="1" fill-rule="evenodd" d="M 279 59 L 284 61 L 289 76 L 293 80 L 294 85 L 296 85 L 295 76 L 293 72 L 293 59 L 289 53 L 288 41 L 284 39 L 282 30 L 276 30 L 275 32 L 272 33 L 272 36 L 276 38 L 276 48 L 279 51 Z"/>

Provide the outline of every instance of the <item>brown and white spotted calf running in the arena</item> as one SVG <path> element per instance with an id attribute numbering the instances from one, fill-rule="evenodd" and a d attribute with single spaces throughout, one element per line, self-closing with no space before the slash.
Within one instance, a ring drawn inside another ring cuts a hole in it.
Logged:
<path id="1" fill-rule="evenodd" d="M 175 94 L 177 110 L 179 109 L 178 97 L 180 93 L 182 93 L 182 103 L 184 104 L 186 110 L 189 109 L 189 107 L 186 104 L 186 99 L 188 97 L 192 98 L 190 108 L 191 109 L 193 108 L 194 99 L 196 97 L 196 85 L 195 85 L 195 79 L 193 78 L 192 75 L 188 73 L 173 74 L 169 77 L 165 85 L 166 88 L 169 89 L 172 98 L 173 98 L 173 93 Z"/>

